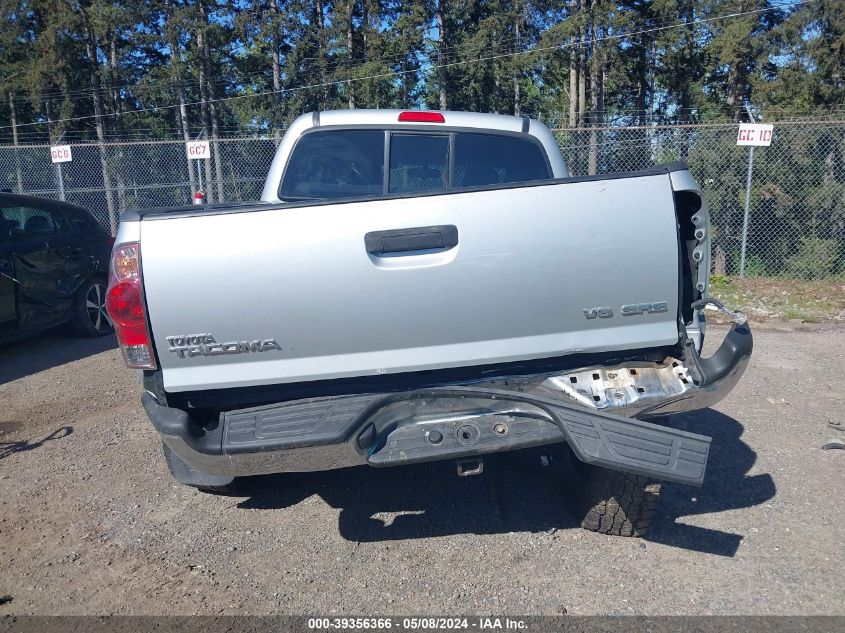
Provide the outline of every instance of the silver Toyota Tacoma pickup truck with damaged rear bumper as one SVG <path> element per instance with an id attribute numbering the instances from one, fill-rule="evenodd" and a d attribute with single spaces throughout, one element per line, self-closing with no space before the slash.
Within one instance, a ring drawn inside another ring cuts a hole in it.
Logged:
<path id="1" fill-rule="evenodd" d="M 699 356 L 710 224 L 681 163 L 570 177 L 528 118 L 299 117 L 262 200 L 124 214 L 108 310 L 175 478 L 548 447 L 582 525 L 639 535 L 700 485 L 752 337 Z M 718 431 L 717 429 L 714 429 Z"/>

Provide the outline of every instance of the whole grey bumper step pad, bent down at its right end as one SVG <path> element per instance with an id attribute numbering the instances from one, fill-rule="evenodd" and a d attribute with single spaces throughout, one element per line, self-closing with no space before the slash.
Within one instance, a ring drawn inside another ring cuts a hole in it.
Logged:
<path id="1" fill-rule="evenodd" d="M 483 423 L 469 424 L 470 435 L 472 429 L 478 435 L 465 441 L 459 436 L 461 421 L 405 419 L 396 424 L 381 419 L 375 426 L 371 423 L 388 405 L 423 398 L 522 403 L 546 415 L 503 414 L 497 422 L 499 417 L 493 413 Z M 497 433 L 497 424 L 504 424 L 506 430 Z M 361 455 L 362 463 L 372 466 L 471 457 L 565 440 L 583 462 L 694 486 L 703 483 L 710 449 L 706 436 L 529 393 L 479 387 L 314 399 L 230 411 L 221 414 L 220 427 L 221 457 L 261 453 L 266 459 L 273 452 L 346 444 Z M 442 439 L 435 436 L 438 441 L 432 441 L 432 432 Z M 205 457 L 207 465 L 210 456 Z"/>

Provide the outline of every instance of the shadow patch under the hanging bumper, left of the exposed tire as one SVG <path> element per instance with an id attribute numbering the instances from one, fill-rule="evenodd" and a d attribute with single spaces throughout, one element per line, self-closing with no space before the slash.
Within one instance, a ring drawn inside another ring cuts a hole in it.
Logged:
<path id="1" fill-rule="evenodd" d="M 285 508 L 316 493 L 340 509 L 340 534 L 363 542 L 577 527 L 540 454 L 489 456 L 473 477 L 458 477 L 452 461 L 255 477 L 239 507 Z"/>

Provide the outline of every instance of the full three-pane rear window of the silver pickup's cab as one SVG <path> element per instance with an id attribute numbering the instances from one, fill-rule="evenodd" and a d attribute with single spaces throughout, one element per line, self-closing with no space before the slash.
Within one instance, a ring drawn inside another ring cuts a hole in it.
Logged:
<path id="1" fill-rule="evenodd" d="M 334 200 L 551 177 L 542 145 L 525 134 L 317 129 L 294 146 L 279 198 Z"/>

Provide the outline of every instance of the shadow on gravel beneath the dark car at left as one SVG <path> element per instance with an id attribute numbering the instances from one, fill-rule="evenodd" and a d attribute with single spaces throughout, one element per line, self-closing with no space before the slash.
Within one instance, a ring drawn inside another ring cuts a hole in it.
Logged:
<path id="1" fill-rule="evenodd" d="M 63 328 L 0 345 L 0 385 L 117 347 L 114 335 L 75 338 Z"/>

